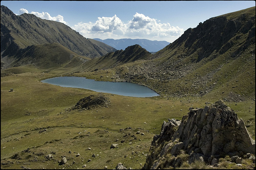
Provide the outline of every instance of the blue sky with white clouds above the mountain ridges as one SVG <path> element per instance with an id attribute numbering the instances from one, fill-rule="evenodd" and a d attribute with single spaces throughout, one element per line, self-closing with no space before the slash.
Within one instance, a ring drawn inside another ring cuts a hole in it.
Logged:
<path id="1" fill-rule="evenodd" d="M 174 42 L 212 17 L 255 6 L 255 1 L 1 1 L 14 14 L 62 22 L 85 38 Z"/>

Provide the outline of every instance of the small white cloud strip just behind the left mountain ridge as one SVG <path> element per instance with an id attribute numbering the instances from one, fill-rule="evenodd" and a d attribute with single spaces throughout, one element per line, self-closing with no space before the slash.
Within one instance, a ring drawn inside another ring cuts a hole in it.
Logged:
<path id="1" fill-rule="evenodd" d="M 31 12 L 29 13 L 28 10 L 26 9 L 23 9 L 21 8 L 19 10 L 19 15 L 21 14 L 24 14 L 24 13 L 27 13 L 27 14 L 34 14 L 35 16 L 39 17 L 39 18 L 42 18 L 42 19 L 46 19 L 46 20 L 52 20 L 52 21 L 57 21 L 57 22 L 62 22 L 63 24 L 68 24 L 66 21 L 64 21 L 64 18 L 63 16 L 61 15 L 58 15 L 58 16 L 50 16 L 50 14 L 48 12 L 42 12 L 42 13 L 39 13 L 39 12 Z"/>

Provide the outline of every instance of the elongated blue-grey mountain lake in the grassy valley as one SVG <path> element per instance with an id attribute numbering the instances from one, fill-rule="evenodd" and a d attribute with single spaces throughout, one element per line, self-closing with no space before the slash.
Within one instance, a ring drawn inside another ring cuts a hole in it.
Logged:
<path id="1" fill-rule="evenodd" d="M 158 93 L 146 86 L 129 82 L 95 81 L 93 79 L 86 79 L 85 77 L 54 77 L 42 80 L 41 82 L 61 87 L 88 89 L 96 92 L 111 93 L 129 97 L 159 96 Z"/>

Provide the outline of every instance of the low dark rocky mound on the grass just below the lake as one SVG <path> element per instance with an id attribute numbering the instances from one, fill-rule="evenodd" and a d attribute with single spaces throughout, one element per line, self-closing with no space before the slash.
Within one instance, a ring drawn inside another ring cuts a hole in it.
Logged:
<path id="1" fill-rule="evenodd" d="M 72 109 L 90 109 L 97 106 L 108 107 L 110 101 L 108 97 L 99 94 L 99 95 L 90 95 L 83 99 L 80 99 L 78 103 Z"/>

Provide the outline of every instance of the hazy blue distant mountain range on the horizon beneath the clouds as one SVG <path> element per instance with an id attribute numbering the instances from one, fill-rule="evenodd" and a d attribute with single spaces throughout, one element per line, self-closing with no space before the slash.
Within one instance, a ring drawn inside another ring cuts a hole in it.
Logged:
<path id="1" fill-rule="evenodd" d="M 111 47 L 114 47 L 115 49 L 126 49 L 126 47 L 138 44 L 142 48 L 145 48 L 149 52 L 156 52 L 160 49 L 163 49 L 166 45 L 169 45 L 169 42 L 166 41 L 151 41 L 146 39 L 130 39 L 130 38 L 123 38 L 119 40 L 114 39 L 106 39 L 101 40 L 99 38 L 94 38 L 94 40 L 97 40 L 99 42 L 106 43 L 110 45 Z"/>

